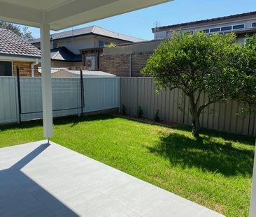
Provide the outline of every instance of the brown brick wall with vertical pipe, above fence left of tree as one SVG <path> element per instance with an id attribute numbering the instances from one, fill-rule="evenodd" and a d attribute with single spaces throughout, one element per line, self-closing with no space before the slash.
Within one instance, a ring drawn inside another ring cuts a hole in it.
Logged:
<path id="1" fill-rule="evenodd" d="M 131 76 L 141 77 L 140 70 L 152 52 L 138 52 L 131 56 Z M 131 54 L 101 54 L 99 57 L 99 70 L 117 76 L 129 77 Z"/>

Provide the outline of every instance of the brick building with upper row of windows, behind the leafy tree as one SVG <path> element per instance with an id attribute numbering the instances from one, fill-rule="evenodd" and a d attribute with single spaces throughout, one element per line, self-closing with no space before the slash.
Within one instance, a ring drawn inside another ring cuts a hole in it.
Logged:
<path id="1" fill-rule="evenodd" d="M 236 33 L 237 43 L 245 43 L 246 38 L 256 33 L 256 12 L 242 13 L 209 20 L 173 24 L 152 28 L 154 40 L 125 43 L 116 47 L 104 48 L 99 57 L 99 70 L 123 77 L 139 77 L 143 68 L 157 46 L 176 31 L 196 33 Z"/>

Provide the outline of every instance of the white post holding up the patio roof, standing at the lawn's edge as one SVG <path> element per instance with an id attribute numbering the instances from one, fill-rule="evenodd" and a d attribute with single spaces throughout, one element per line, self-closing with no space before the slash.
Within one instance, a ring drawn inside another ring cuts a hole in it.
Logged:
<path id="1" fill-rule="evenodd" d="M 41 67 L 43 98 L 43 134 L 49 140 L 52 137 L 52 77 L 50 71 L 50 27 L 45 13 L 42 12 L 41 34 Z"/>

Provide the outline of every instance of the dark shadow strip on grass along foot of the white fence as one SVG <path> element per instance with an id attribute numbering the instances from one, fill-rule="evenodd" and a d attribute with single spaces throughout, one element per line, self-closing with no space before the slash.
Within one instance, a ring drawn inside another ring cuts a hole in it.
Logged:
<path id="1" fill-rule="evenodd" d="M 79 123 L 87 122 L 87 121 L 99 121 L 99 120 L 107 120 L 107 119 L 115 119 L 115 117 L 109 114 L 97 114 L 93 116 L 86 117 L 59 117 L 53 120 L 53 124 L 56 126 L 71 124 L 71 127 L 76 126 Z M 7 124 L 0 126 L 0 131 L 11 130 L 11 129 L 24 129 L 24 128 L 34 128 L 43 126 L 43 120 L 34 120 L 34 121 L 26 121 L 22 122 L 22 124 Z"/>

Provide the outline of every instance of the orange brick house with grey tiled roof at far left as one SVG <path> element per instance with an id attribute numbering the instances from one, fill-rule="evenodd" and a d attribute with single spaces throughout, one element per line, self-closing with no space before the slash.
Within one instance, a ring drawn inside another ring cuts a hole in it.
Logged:
<path id="1" fill-rule="evenodd" d="M 0 29 L 0 76 L 17 75 L 16 68 L 24 68 L 21 76 L 37 76 L 34 66 L 41 59 L 41 51 L 22 37 L 7 29 Z"/>

